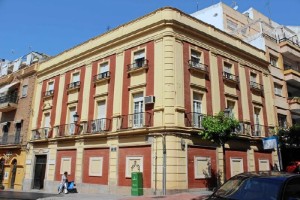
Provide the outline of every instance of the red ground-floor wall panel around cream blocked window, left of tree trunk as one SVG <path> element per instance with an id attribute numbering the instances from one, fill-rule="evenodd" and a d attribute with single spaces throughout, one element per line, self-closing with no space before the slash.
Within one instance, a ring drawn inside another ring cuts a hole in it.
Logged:
<path id="1" fill-rule="evenodd" d="M 217 160 L 216 149 L 204 147 L 189 147 L 188 148 L 188 188 L 207 188 L 216 184 L 217 178 Z M 211 159 L 211 174 L 209 179 L 195 179 L 195 156 L 210 157 Z"/>

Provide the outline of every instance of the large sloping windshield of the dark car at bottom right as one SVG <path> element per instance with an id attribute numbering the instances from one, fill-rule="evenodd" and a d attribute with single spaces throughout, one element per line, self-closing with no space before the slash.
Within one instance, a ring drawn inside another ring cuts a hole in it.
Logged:
<path id="1" fill-rule="evenodd" d="M 235 177 L 221 186 L 214 196 L 234 200 L 276 200 L 283 180 L 259 177 Z"/>

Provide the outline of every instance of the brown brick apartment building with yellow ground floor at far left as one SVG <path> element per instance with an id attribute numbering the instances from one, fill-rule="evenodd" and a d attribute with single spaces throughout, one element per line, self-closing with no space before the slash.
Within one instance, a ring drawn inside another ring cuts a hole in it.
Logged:
<path id="1" fill-rule="evenodd" d="M 0 187 L 22 190 L 35 73 L 45 55 L 0 62 Z M 30 134 L 29 134 L 30 135 Z"/>

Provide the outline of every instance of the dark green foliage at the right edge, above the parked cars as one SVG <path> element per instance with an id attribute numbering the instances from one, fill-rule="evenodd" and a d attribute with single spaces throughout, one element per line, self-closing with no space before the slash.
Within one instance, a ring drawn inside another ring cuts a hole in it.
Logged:
<path id="1" fill-rule="evenodd" d="M 278 130 L 279 144 L 286 147 L 300 146 L 300 124 Z"/>

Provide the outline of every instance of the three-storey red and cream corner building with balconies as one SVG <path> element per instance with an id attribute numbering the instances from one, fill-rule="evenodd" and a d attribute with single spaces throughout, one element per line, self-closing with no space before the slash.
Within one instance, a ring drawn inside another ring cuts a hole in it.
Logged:
<path id="1" fill-rule="evenodd" d="M 57 191 L 67 171 L 79 192 L 145 194 L 207 188 L 222 149 L 199 138 L 205 115 L 226 108 L 239 137 L 226 177 L 269 170 L 275 126 L 265 53 L 174 8 L 162 8 L 41 63 L 24 190 Z"/>

